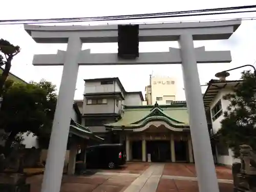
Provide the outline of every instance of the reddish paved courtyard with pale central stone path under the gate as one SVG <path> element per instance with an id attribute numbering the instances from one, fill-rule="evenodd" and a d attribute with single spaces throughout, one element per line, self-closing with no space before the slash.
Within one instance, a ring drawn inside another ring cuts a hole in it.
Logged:
<path id="1" fill-rule="evenodd" d="M 221 192 L 231 192 L 231 170 L 216 167 Z M 42 175 L 28 178 L 31 192 L 40 192 Z M 195 165 L 127 163 L 116 170 L 98 170 L 87 176 L 63 176 L 61 192 L 194 192 L 198 191 Z"/>

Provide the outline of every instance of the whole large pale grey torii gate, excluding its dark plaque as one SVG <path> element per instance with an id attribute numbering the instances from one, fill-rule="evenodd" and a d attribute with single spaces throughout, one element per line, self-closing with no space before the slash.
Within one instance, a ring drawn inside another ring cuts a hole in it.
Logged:
<path id="1" fill-rule="evenodd" d="M 199 190 L 200 192 L 219 191 L 197 62 L 230 62 L 231 55 L 230 51 L 205 51 L 204 47 L 195 49 L 193 40 L 228 39 L 240 25 L 241 20 L 140 25 L 140 41 L 178 40 L 180 49 L 169 48 L 169 52 L 162 53 L 140 53 L 139 57 L 134 60 L 119 59 L 116 53 L 91 54 L 90 50 L 81 51 L 82 43 L 117 42 L 117 25 L 25 25 L 25 30 L 38 43 L 68 43 L 67 51 L 58 51 L 57 54 L 49 55 L 34 55 L 33 60 L 35 66 L 63 66 L 41 192 L 59 192 L 60 190 L 79 65 L 169 63 L 182 64 Z"/>

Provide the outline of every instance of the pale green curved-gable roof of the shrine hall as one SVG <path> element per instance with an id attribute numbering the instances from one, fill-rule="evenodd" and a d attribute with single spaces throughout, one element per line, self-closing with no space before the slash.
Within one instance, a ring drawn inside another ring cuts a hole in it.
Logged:
<path id="1" fill-rule="evenodd" d="M 164 108 L 159 106 L 150 108 L 124 109 L 122 119 L 118 122 L 105 124 L 106 127 L 141 127 L 147 122 L 162 120 L 174 127 L 188 127 L 187 109 L 181 108 Z"/>

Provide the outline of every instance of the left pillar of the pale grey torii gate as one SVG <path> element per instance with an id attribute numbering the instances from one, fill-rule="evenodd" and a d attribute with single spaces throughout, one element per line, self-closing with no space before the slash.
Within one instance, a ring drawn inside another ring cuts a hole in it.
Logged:
<path id="1" fill-rule="evenodd" d="M 60 190 L 79 69 L 77 58 L 81 47 L 80 37 L 69 37 L 48 147 L 44 179 L 41 185 L 41 191 L 43 192 L 59 192 Z"/>

